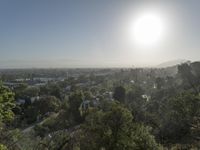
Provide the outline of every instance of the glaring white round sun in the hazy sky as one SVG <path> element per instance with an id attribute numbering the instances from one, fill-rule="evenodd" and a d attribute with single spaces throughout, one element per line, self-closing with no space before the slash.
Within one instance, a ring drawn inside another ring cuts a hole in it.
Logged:
<path id="1" fill-rule="evenodd" d="M 164 25 L 157 14 L 147 13 L 139 16 L 133 23 L 134 41 L 142 46 L 155 45 L 162 38 Z"/>

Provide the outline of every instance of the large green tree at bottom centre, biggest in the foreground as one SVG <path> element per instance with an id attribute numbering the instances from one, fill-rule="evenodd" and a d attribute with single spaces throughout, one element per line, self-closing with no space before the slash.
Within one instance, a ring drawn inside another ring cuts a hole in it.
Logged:
<path id="1" fill-rule="evenodd" d="M 133 122 L 131 112 L 118 103 L 108 111 L 94 111 L 81 127 L 83 150 L 156 150 L 158 144 L 146 127 Z"/>

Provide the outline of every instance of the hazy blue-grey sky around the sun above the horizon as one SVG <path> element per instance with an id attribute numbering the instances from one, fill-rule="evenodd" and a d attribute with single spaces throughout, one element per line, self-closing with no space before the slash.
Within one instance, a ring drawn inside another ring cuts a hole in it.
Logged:
<path id="1" fill-rule="evenodd" d="M 165 32 L 149 47 L 130 24 L 154 12 Z M 1 0 L 0 68 L 148 67 L 200 60 L 199 0 Z"/>

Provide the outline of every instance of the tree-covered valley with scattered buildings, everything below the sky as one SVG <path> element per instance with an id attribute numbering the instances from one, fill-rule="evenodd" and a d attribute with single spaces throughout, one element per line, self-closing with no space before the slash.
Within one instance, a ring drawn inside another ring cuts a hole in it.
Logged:
<path id="1" fill-rule="evenodd" d="M 200 149 L 199 68 L 1 72 L 0 149 Z"/>

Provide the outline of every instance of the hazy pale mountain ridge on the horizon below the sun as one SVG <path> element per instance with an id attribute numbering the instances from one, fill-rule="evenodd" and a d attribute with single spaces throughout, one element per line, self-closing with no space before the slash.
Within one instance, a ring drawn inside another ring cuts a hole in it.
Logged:
<path id="1" fill-rule="evenodd" d="M 171 60 L 171 61 L 161 63 L 161 64 L 157 65 L 156 67 L 157 68 L 166 68 L 166 67 L 177 66 L 179 64 L 186 63 L 186 62 L 190 62 L 190 61 L 186 60 L 186 59 L 176 59 L 176 60 Z"/>

